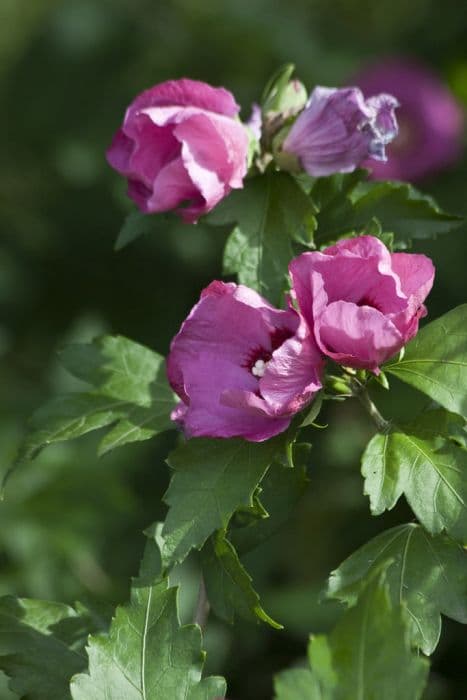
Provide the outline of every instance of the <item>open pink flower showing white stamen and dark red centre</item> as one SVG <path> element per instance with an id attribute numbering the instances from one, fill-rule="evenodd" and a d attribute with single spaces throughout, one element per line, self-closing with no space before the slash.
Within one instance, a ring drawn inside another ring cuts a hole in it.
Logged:
<path id="1" fill-rule="evenodd" d="M 321 388 L 322 366 L 295 310 L 212 282 L 172 341 L 167 374 L 181 398 L 172 418 L 189 437 L 266 440 Z"/>

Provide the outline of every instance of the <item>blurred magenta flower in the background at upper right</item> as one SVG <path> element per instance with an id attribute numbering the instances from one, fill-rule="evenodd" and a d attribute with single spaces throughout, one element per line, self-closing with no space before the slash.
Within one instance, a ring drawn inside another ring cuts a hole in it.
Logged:
<path id="1" fill-rule="evenodd" d="M 365 95 L 388 90 L 400 102 L 399 134 L 387 162 L 366 164 L 373 178 L 419 180 L 460 156 L 463 113 L 433 73 L 408 60 L 390 59 L 370 66 L 356 82 Z"/>

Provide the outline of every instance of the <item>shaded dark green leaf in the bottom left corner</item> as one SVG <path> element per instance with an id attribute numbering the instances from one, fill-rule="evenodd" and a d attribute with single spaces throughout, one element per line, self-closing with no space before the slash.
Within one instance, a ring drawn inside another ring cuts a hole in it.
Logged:
<path id="1" fill-rule="evenodd" d="M 45 600 L 0 599 L 0 668 L 10 688 L 29 700 L 66 700 L 70 678 L 86 668 L 87 613 Z"/>

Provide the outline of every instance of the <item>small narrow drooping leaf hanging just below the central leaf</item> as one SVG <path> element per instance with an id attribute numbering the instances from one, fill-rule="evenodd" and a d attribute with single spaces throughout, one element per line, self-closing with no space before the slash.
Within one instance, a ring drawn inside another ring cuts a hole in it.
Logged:
<path id="1" fill-rule="evenodd" d="M 238 614 L 245 620 L 266 622 L 274 629 L 283 629 L 261 607 L 251 577 L 226 539 L 225 531 L 219 531 L 206 542 L 201 564 L 208 599 L 216 615 L 230 624 Z"/>

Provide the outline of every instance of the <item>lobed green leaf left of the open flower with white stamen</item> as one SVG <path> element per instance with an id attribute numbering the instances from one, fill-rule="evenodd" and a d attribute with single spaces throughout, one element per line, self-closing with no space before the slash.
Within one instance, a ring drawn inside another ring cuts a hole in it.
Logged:
<path id="1" fill-rule="evenodd" d="M 170 412 L 175 401 L 161 355 L 122 336 L 104 336 L 69 346 L 61 359 L 93 388 L 59 396 L 40 408 L 32 417 L 33 432 L 22 445 L 18 461 L 32 459 L 46 445 L 105 426 L 113 427 L 103 438 L 99 454 L 173 427 Z"/>

